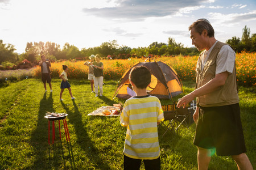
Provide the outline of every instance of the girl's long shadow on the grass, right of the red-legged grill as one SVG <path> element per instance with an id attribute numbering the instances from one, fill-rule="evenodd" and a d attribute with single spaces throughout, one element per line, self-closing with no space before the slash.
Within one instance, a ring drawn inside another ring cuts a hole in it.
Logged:
<path id="1" fill-rule="evenodd" d="M 90 139 L 88 135 L 88 131 L 86 130 L 85 126 L 86 123 L 82 122 L 82 115 L 79 111 L 79 108 L 76 105 L 75 100 L 73 100 L 73 106 L 75 111 L 69 110 L 69 108 L 61 101 L 61 105 L 68 113 L 68 120 L 70 124 L 73 124 L 75 129 L 75 133 L 77 136 L 76 143 L 81 147 L 82 150 L 86 152 L 86 155 L 91 160 L 94 165 L 97 165 L 97 169 L 111 169 L 108 164 L 102 162 L 99 154 L 100 151 L 94 146 L 94 143 Z M 72 139 L 71 139 L 72 140 Z M 72 154 L 72 147 L 70 150 Z M 89 167 L 88 167 L 89 168 Z"/>

